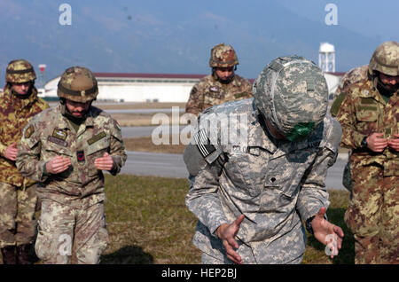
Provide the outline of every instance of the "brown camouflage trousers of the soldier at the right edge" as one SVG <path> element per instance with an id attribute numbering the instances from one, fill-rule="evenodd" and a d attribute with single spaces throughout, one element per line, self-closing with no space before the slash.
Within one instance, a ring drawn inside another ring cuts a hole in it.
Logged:
<path id="1" fill-rule="evenodd" d="M 399 263 L 399 177 L 367 166 L 353 169 L 352 179 L 345 223 L 355 237 L 355 262 Z"/>

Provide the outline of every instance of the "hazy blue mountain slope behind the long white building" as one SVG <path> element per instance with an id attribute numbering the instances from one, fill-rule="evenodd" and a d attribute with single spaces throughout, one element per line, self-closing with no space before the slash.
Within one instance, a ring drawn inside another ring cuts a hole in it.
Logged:
<path id="1" fill-rule="evenodd" d="M 286 54 L 317 62 L 323 42 L 335 46 L 336 71 L 345 72 L 368 63 L 379 44 L 345 27 L 308 20 L 275 0 L 75 0 L 67 2 L 71 25 L 59 23 L 63 3 L 0 2 L 0 77 L 8 62 L 19 58 L 31 61 L 37 74 L 38 64 L 47 65 L 39 84 L 71 66 L 93 72 L 208 74 L 210 49 L 222 42 L 237 51 L 238 74 L 247 78 Z"/>

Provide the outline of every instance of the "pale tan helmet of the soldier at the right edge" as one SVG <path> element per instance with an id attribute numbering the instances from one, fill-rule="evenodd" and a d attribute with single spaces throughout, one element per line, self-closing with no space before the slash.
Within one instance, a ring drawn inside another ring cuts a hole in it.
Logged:
<path id="1" fill-rule="evenodd" d="M 387 41 L 377 47 L 369 63 L 369 73 L 373 74 L 374 71 L 391 76 L 399 75 L 399 43 Z"/>

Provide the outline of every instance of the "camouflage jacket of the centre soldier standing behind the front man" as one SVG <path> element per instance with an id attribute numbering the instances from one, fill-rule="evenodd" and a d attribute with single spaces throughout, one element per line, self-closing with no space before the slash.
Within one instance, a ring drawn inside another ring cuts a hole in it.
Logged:
<path id="1" fill-rule="evenodd" d="M 235 74 L 230 83 L 223 84 L 209 74 L 192 87 L 185 112 L 198 115 L 209 106 L 252 97 L 252 84 L 245 78 Z"/>

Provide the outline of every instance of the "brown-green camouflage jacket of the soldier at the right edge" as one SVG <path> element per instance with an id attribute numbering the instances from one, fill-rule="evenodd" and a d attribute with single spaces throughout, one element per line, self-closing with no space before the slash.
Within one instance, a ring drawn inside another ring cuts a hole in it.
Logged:
<path id="1" fill-rule="evenodd" d="M 384 176 L 399 176 L 399 153 L 387 147 L 382 153 L 362 149 L 364 137 L 384 132 L 384 137 L 399 133 L 399 97 L 396 92 L 385 102 L 371 80 L 353 84 L 340 106 L 337 120 L 342 126 L 341 145 L 353 149 L 353 173 L 364 165 L 378 163 L 384 167 Z"/>

